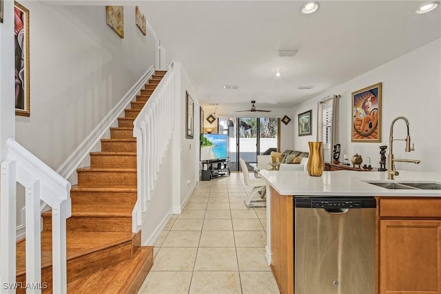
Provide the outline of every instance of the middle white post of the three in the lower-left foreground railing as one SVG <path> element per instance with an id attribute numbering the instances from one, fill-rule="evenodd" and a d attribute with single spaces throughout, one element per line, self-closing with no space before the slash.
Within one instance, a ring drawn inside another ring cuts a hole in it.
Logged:
<path id="1" fill-rule="evenodd" d="M 41 282 L 41 222 L 40 181 L 26 185 L 26 281 Z M 30 293 L 41 293 L 41 287 L 28 289 Z M 27 291 L 27 293 L 28 293 Z"/>

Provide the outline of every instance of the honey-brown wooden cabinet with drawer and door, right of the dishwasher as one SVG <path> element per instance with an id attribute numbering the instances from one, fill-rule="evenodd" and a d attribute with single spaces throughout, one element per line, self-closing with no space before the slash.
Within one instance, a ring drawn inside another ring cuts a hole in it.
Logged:
<path id="1" fill-rule="evenodd" d="M 441 293 L 441 199 L 380 198 L 378 293 Z"/>

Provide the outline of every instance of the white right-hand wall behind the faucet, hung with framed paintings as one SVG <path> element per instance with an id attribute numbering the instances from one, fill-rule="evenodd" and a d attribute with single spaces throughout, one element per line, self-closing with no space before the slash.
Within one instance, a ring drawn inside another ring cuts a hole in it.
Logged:
<path id="1" fill-rule="evenodd" d="M 441 172 L 441 40 L 409 52 L 398 59 L 386 63 L 360 77 L 339 86 L 330 88 L 321 95 L 294 108 L 295 117 L 312 109 L 313 130 L 311 136 L 298 137 L 295 131 L 294 148 L 309 150 L 308 141 L 315 141 L 317 135 L 317 102 L 329 95 L 340 94 L 340 115 L 338 136 L 342 155 L 349 158 L 358 153 L 364 163 L 371 157 L 371 165 L 379 166 L 379 146 L 389 146 L 391 121 L 398 116 L 409 119 L 410 135 L 415 151 L 404 152 L 404 141 L 393 142 L 395 158 L 420 159 L 419 165 L 396 163 L 398 170 Z M 382 142 L 351 143 L 351 92 L 382 82 Z M 296 121 L 295 121 L 296 122 Z M 297 124 L 295 123 L 295 130 Z M 393 137 L 404 139 L 404 121 L 397 121 Z M 389 147 L 387 148 L 389 153 Z"/>

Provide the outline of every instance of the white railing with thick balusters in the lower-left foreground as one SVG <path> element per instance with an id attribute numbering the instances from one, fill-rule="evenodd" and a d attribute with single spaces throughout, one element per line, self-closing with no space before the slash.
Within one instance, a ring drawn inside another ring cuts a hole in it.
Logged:
<path id="1" fill-rule="evenodd" d="M 40 203 L 52 208 L 52 293 L 67 292 L 66 219 L 71 215 L 70 182 L 30 153 L 13 138 L 6 141 L 8 153 L 0 176 L 0 283 L 1 293 L 26 288 L 41 293 Z M 17 182 L 25 187 L 26 283 L 16 282 Z"/>

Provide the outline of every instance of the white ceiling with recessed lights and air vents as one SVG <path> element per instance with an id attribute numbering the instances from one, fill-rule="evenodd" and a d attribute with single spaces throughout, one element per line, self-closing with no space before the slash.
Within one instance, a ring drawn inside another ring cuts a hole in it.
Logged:
<path id="1" fill-rule="evenodd" d="M 202 106 L 295 106 L 441 35 L 441 8 L 424 1 L 143 1 L 147 21 L 181 61 Z M 278 50 L 298 50 L 293 58 Z M 280 68 L 280 77 L 276 77 Z M 225 90 L 223 85 L 238 85 Z M 300 90 L 300 86 L 314 86 Z"/>

